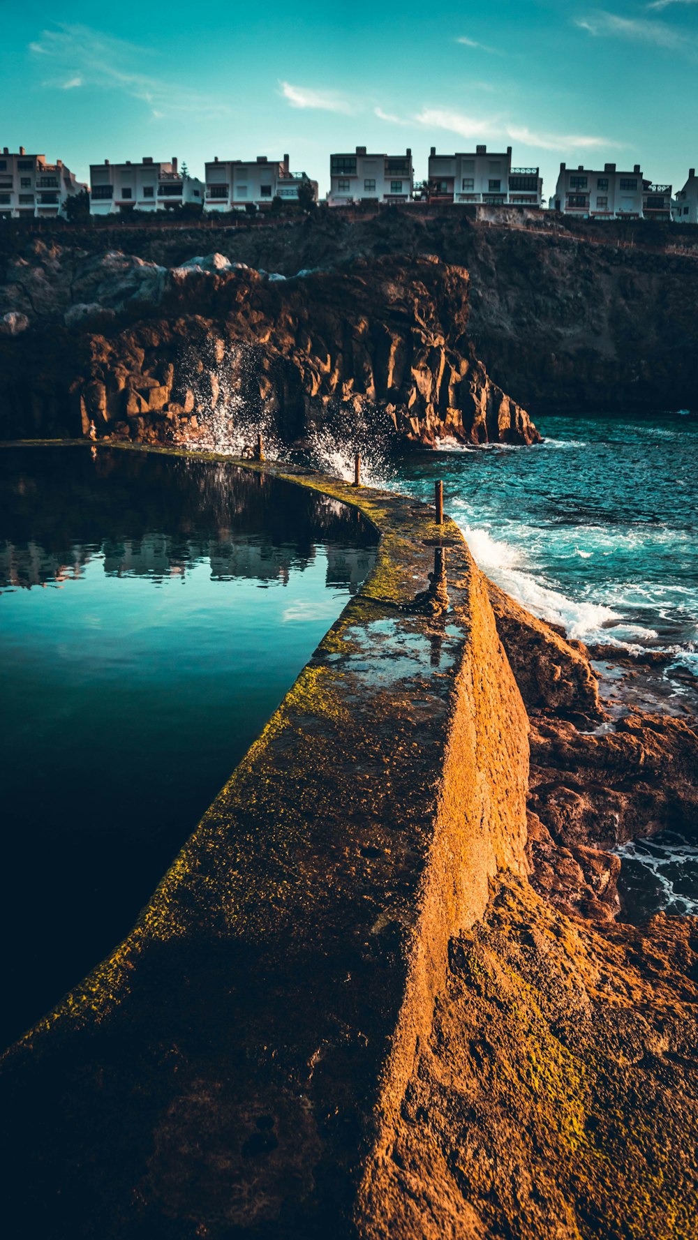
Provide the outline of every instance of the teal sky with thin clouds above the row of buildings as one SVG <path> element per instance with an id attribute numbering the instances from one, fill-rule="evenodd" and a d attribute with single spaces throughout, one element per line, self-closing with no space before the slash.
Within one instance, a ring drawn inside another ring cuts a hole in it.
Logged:
<path id="1" fill-rule="evenodd" d="M 698 0 L 0 0 L 0 145 L 89 164 L 512 146 L 539 165 L 698 166 Z"/>

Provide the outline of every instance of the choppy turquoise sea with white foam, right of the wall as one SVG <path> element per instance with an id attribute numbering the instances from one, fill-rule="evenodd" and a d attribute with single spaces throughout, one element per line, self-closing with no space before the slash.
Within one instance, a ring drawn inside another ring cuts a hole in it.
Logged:
<path id="1" fill-rule="evenodd" d="M 647 709 L 698 708 L 698 419 L 557 417 L 534 448 L 404 458 L 387 485 L 445 508 L 480 567 L 572 637 L 663 650 Z M 698 823 L 621 849 L 625 915 L 698 913 Z"/>

